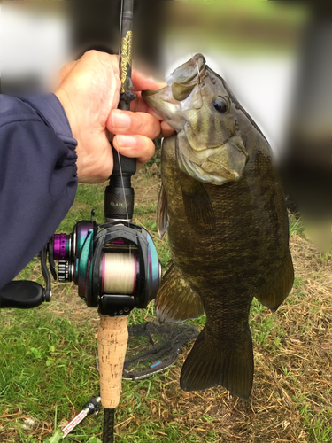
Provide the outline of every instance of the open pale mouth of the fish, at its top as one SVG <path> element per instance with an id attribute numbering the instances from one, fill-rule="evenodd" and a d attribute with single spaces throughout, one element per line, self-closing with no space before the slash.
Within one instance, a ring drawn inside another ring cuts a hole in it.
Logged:
<path id="1" fill-rule="evenodd" d="M 166 92 L 168 100 L 166 101 L 182 101 L 189 96 L 195 86 L 203 80 L 206 72 L 205 57 L 202 54 L 196 54 L 189 61 L 177 67 L 169 77 L 166 78 L 166 86 L 158 90 L 144 90 L 143 98 L 150 105 L 151 100 Z M 172 94 L 169 94 L 171 89 Z M 171 97 L 170 97 L 171 96 Z M 165 99 L 165 97 L 164 97 Z M 149 103 L 150 102 L 150 103 Z"/>

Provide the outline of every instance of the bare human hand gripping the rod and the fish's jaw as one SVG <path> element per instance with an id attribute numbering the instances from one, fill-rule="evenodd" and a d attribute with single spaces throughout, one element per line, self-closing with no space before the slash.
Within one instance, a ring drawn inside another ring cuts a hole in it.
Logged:
<path id="1" fill-rule="evenodd" d="M 63 105 L 73 137 L 77 140 L 77 175 L 81 183 L 103 183 L 113 168 L 112 144 L 120 154 L 137 159 L 137 166 L 154 154 L 152 140 L 170 136 L 174 129 L 153 113 L 141 97 L 144 89 L 160 89 L 155 82 L 133 69 L 136 94 L 131 111 L 117 109 L 120 97 L 119 58 L 98 51 L 86 52 L 61 71 L 55 91 Z"/>

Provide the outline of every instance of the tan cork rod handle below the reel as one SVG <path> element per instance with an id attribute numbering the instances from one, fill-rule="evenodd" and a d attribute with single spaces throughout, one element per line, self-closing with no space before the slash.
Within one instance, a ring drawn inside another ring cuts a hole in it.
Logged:
<path id="1" fill-rule="evenodd" d="M 119 405 L 127 341 L 127 316 L 100 315 L 98 356 L 100 397 L 104 408 L 116 408 Z"/>

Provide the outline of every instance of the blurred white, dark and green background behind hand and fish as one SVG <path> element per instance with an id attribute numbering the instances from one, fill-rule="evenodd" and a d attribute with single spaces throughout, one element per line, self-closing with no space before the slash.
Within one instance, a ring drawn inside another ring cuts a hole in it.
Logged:
<path id="1" fill-rule="evenodd" d="M 2 2 L 1 92 L 40 94 L 84 51 L 118 52 L 120 0 Z M 166 77 L 197 52 L 265 134 L 293 212 L 331 237 L 332 60 L 315 3 L 136 0 L 135 64 Z"/>

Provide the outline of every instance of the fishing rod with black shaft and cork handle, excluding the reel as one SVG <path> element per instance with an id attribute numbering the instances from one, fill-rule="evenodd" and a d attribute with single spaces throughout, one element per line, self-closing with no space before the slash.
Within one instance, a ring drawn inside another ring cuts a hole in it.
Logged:
<path id="1" fill-rule="evenodd" d="M 130 110 L 130 102 L 135 99 L 131 82 L 132 41 L 133 41 L 134 0 L 122 0 L 120 12 L 120 102 L 118 108 Z M 120 155 L 112 147 L 113 172 L 109 186 L 104 193 L 105 221 L 127 221 L 127 227 L 134 212 L 134 189 L 131 187 L 131 176 L 136 171 L 136 159 Z M 129 260 L 134 256 L 129 246 Z M 131 260 L 131 274 L 136 267 L 135 258 Z M 126 278 L 129 280 L 130 276 Z M 132 277 L 131 277 L 132 279 Z M 127 280 L 127 281 L 128 281 Z M 105 297 L 105 296 L 104 296 Z M 123 314 L 110 312 L 109 307 L 101 305 L 99 309 L 100 327 L 98 331 L 98 358 L 100 374 L 100 396 L 104 406 L 103 443 L 112 443 L 114 433 L 114 413 L 120 402 L 122 371 L 125 363 L 128 330 L 127 307 Z"/>

